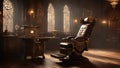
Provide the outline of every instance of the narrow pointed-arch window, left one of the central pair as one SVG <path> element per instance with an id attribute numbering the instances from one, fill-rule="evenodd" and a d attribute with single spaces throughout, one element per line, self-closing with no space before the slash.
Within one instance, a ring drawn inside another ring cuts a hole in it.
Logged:
<path id="1" fill-rule="evenodd" d="M 55 30 L 55 11 L 51 3 L 48 6 L 47 21 L 48 21 L 48 29 L 47 29 L 48 32 Z"/>

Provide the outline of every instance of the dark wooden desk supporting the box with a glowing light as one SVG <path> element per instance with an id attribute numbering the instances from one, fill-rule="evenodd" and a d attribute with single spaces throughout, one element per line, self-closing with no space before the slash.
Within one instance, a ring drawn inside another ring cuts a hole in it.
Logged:
<path id="1" fill-rule="evenodd" d="M 23 37 L 26 46 L 25 56 L 44 59 L 45 43 L 50 39 L 56 39 L 56 37 Z"/>

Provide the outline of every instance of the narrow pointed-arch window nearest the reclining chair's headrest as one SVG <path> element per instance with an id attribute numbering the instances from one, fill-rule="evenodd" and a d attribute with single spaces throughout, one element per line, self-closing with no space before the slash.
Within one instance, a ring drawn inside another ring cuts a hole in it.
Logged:
<path id="1" fill-rule="evenodd" d="M 63 9 L 63 32 L 70 32 L 70 11 L 67 5 Z"/>

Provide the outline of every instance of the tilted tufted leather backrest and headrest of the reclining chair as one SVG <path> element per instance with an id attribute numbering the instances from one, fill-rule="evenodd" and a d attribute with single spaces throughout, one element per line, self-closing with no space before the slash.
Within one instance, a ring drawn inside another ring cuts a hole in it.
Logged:
<path id="1" fill-rule="evenodd" d="M 82 25 L 80 26 L 80 29 L 77 33 L 77 36 L 76 38 L 78 37 L 90 37 L 91 33 L 92 33 L 92 30 L 93 30 L 93 27 L 95 25 L 95 20 L 93 19 L 92 21 L 90 20 L 83 20 L 81 21 Z"/>

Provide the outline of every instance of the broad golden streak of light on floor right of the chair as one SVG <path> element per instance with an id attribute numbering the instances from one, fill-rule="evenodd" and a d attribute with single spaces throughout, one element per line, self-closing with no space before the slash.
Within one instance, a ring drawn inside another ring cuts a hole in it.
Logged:
<path id="1" fill-rule="evenodd" d="M 92 61 L 120 65 L 120 53 L 117 51 L 91 49 L 84 52 L 84 56 Z"/>

